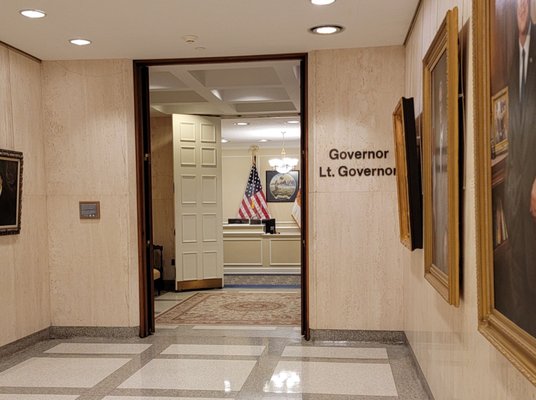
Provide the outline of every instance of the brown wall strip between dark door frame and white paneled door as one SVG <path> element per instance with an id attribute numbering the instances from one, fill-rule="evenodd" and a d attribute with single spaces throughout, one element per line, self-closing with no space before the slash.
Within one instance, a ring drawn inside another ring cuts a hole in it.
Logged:
<path id="1" fill-rule="evenodd" d="M 175 207 L 173 205 L 173 127 L 169 117 L 151 118 L 153 243 L 164 246 L 164 279 L 175 279 Z"/>

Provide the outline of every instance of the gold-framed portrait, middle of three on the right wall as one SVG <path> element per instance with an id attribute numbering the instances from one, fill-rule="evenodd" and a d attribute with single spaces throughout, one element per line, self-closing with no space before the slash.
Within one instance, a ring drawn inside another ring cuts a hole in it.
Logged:
<path id="1" fill-rule="evenodd" d="M 425 277 L 454 306 L 460 301 L 458 10 L 447 12 L 423 59 Z"/>

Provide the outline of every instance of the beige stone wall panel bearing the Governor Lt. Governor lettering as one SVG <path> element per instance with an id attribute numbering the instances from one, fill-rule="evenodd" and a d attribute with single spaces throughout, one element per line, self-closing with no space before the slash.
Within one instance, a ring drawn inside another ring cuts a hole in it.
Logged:
<path id="1" fill-rule="evenodd" d="M 327 50 L 309 59 L 310 321 L 313 329 L 403 329 L 394 176 L 321 178 L 392 167 L 391 113 L 404 91 L 404 48 Z M 336 161 L 329 150 L 387 150 Z"/>

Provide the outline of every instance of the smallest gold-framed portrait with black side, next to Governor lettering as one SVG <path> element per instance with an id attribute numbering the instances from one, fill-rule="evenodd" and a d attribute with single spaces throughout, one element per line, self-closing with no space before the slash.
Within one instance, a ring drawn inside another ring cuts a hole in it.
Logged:
<path id="1" fill-rule="evenodd" d="M 402 97 L 393 112 L 400 241 L 410 250 L 422 248 L 421 168 L 413 99 Z"/>

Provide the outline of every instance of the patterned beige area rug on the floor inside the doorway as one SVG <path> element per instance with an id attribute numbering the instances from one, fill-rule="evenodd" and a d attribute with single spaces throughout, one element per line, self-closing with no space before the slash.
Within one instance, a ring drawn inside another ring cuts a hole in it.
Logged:
<path id="1" fill-rule="evenodd" d="M 299 325 L 300 293 L 196 293 L 157 324 Z"/>

